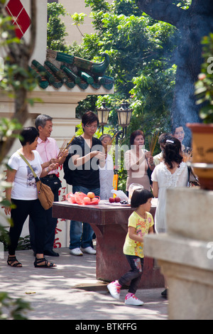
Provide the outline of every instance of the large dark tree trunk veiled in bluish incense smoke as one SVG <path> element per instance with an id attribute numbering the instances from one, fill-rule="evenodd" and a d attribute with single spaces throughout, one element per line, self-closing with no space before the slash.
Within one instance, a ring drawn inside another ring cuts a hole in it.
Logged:
<path id="1" fill-rule="evenodd" d="M 175 63 L 178 65 L 175 95 L 171 109 L 172 126 L 183 126 L 185 144 L 190 145 L 190 130 L 187 122 L 200 122 L 199 107 L 195 103 L 195 82 L 200 74 L 203 36 L 213 32 L 213 1 L 192 0 L 189 9 L 184 10 L 171 4 L 170 0 L 138 0 L 138 6 L 146 14 L 159 21 L 176 26 L 180 41 Z"/>

